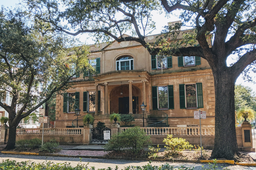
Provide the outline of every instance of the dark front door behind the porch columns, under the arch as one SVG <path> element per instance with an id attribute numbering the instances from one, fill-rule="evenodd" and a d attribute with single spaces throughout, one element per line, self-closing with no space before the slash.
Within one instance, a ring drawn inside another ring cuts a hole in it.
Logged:
<path id="1" fill-rule="evenodd" d="M 129 114 L 129 97 L 119 97 L 119 114 Z M 139 111 L 138 96 L 132 97 L 132 112 L 138 114 Z"/>

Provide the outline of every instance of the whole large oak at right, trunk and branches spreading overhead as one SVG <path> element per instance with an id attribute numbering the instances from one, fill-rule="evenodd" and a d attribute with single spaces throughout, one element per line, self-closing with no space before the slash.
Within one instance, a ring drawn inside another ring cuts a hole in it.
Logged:
<path id="1" fill-rule="evenodd" d="M 245 70 L 256 71 L 255 0 L 62 0 L 64 8 L 52 0 L 27 0 L 28 9 L 51 29 L 69 35 L 96 34 L 97 40 L 136 41 L 150 54 L 200 56 L 211 66 L 215 86 L 215 143 L 212 157 L 236 159 L 234 89 L 237 77 Z M 155 27 L 152 11 L 164 8 L 166 15 L 181 10 L 182 23 L 166 27 L 153 43 L 146 35 Z M 63 9 L 62 11 L 60 9 Z M 62 20 L 68 22 L 64 25 Z M 193 30 L 179 37 L 181 25 Z M 130 30 L 129 37 L 123 33 Z M 212 36 L 212 44 L 208 38 Z M 193 46 L 197 42 L 199 46 Z M 234 63 L 226 64 L 231 54 Z M 248 77 L 250 79 L 250 77 Z"/>

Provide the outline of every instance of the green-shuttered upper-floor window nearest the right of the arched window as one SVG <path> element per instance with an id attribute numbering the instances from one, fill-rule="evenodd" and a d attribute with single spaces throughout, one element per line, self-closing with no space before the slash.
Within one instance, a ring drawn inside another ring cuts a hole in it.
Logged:
<path id="1" fill-rule="evenodd" d="M 151 68 L 162 69 L 172 67 L 172 56 L 167 55 L 151 55 Z"/>

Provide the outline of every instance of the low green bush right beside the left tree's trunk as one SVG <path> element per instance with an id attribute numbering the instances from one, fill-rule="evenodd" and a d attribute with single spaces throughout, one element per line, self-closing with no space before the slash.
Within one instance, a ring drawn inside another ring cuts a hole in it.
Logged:
<path id="1" fill-rule="evenodd" d="M 42 140 L 38 138 L 18 140 L 15 142 L 16 150 L 38 149 L 41 147 Z"/>

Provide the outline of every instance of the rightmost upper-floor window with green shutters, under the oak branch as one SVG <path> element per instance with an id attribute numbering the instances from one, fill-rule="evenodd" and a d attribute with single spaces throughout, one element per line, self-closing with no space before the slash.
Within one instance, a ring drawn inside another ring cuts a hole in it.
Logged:
<path id="1" fill-rule="evenodd" d="M 201 57 L 198 56 L 179 56 L 178 57 L 178 66 L 179 67 L 187 67 L 187 66 L 195 66 L 201 64 Z"/>

